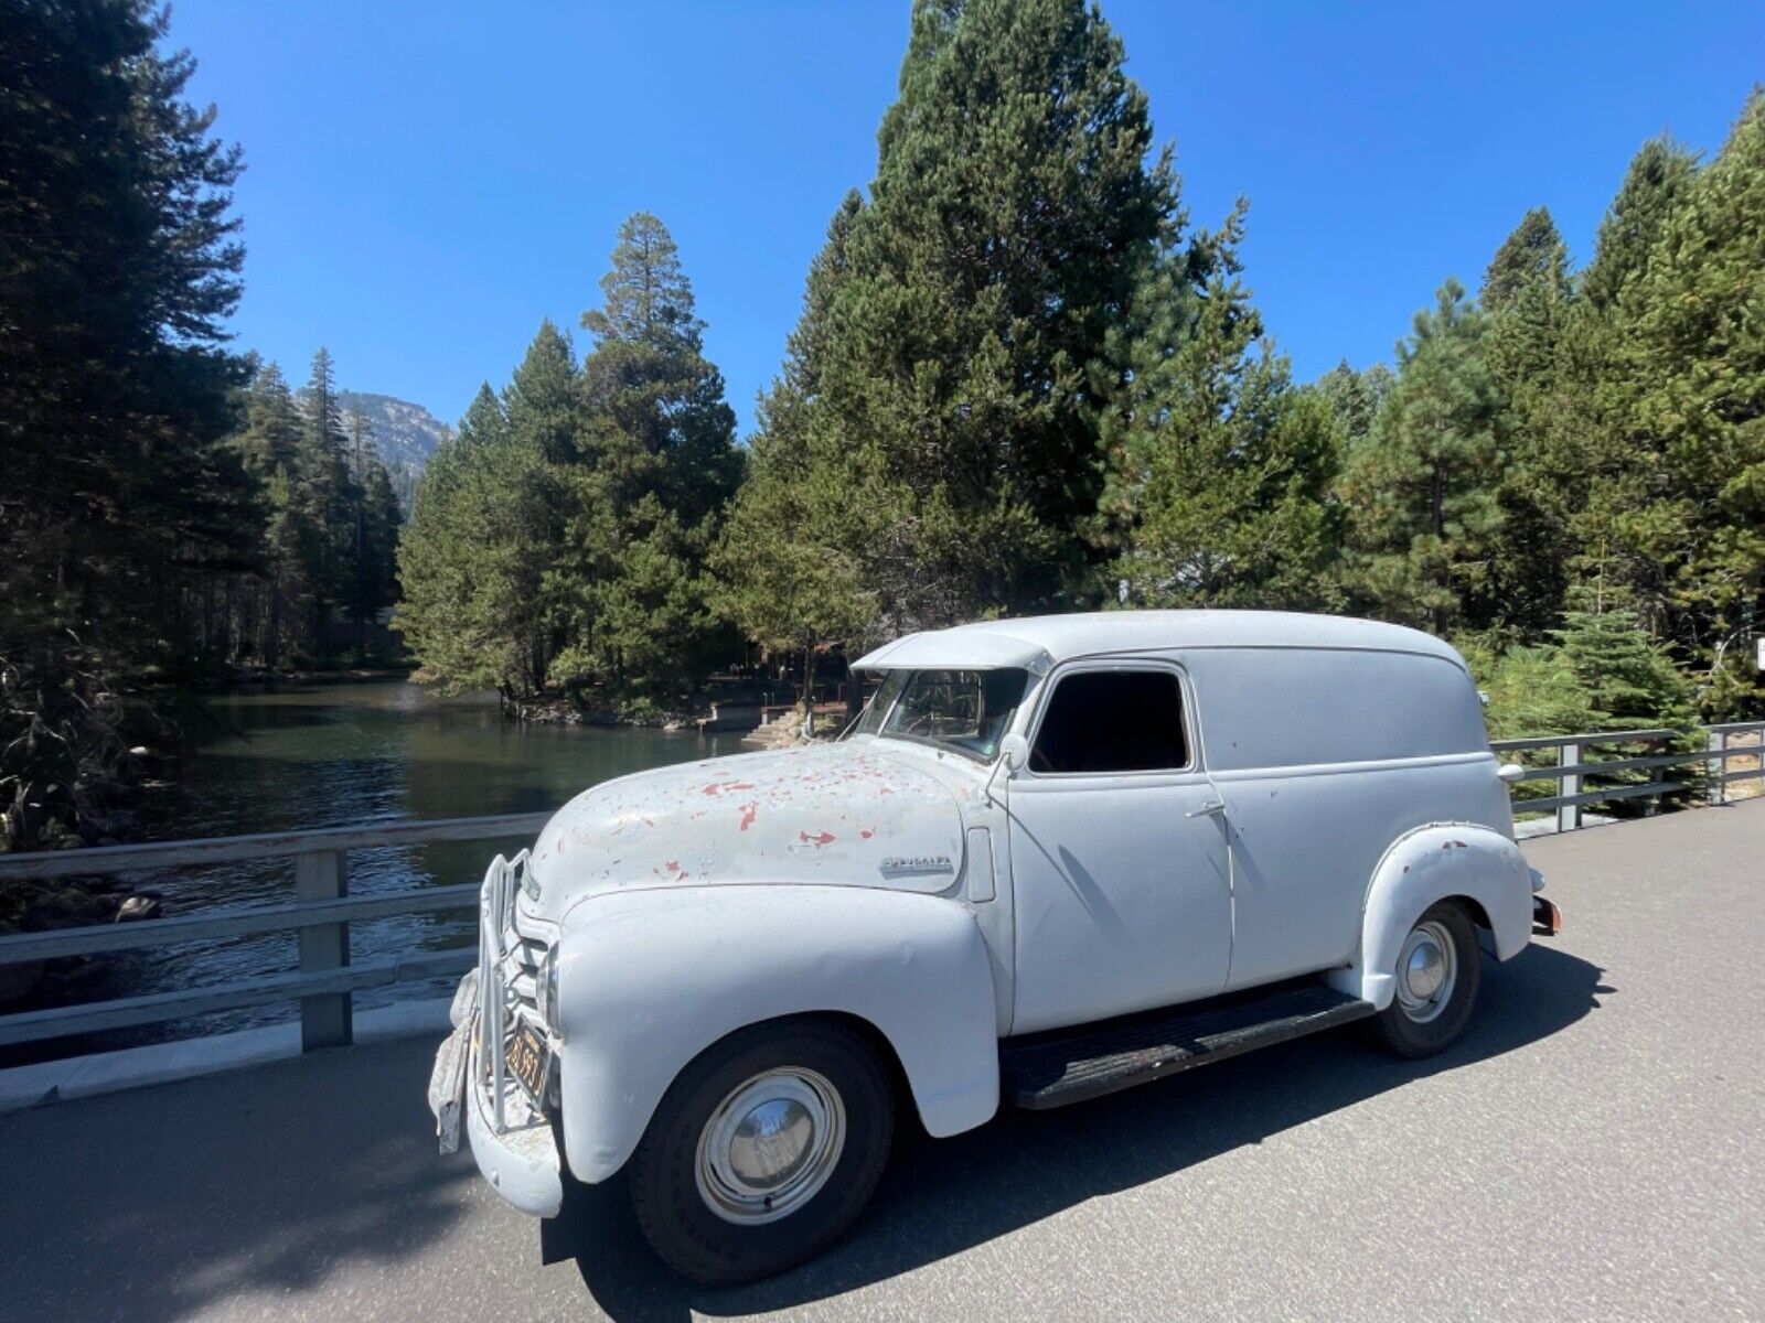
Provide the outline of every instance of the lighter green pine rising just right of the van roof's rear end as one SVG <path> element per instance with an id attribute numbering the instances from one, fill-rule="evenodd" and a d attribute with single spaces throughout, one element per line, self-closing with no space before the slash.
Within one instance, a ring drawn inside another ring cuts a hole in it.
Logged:
<path id="1" fill-rule="evenodd" d="M 1483 337 L 1483 314 L 1447 280 L 1398 346 L 1398 381 L 1341 485 L 1359 607 L 1437 633 L 1483 628 L 1495 614 L 1490 572 L 1509 429 Z"/>

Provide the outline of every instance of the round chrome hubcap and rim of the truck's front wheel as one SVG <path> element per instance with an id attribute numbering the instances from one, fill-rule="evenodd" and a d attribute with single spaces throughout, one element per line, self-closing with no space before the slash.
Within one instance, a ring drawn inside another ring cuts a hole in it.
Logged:
<path id="1" fill-rule="evenodd" d="M 740 1226 L 789 1217 L 828 1184 L 844 1147 L 845 1104 L 826 1076 L 766 1071 L 731 1090 L 699 1132 L 699 1198 Z"/>

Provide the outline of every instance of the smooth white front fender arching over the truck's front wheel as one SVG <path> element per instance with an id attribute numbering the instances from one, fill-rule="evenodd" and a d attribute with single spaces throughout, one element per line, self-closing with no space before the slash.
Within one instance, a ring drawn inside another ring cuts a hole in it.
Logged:
<path id="1" fill-rule="evenodd" d="M 584 1182 L 625 1164 L 694 1057 L 778 1016 L 875 1027 L 935 1136 L 999 1106 L 992 968 L 958 901 L 831 886 L 604 893 L 565 916 L 558 961 L 563 1141 Z"/>

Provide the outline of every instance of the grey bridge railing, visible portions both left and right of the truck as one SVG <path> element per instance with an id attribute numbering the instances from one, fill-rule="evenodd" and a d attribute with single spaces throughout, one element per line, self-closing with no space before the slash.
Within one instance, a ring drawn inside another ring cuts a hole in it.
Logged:
<path id="1" fill-rule="evenodd" d="M 1668 769 L 1696 771 L 1701 764 L 1705 794 L 1712 803 L 1726 801 L 1731 785 L 1765 776 L 1765 721 L 1705 727 L 1694 737 L 1703 744 L 1698 751 L 1663 751 L 1673 741 L 1687 739 L 1686 732 L 1668 729 L 1534 736 L 1495 741 L 1491 748 L 1497 753 L 1516 753 L 1521 759 L 1555 753 L 1551 766 L 1528 767 L 1520 778 L 1520 785 L 1555 781 L 1555 794 L 1544 797 L 1516 796 L 1514 808 L 1555 811 L 1557 826 L 1562 831 L 1573 831 L 1581 826 L 1581 810 L 1588 804 L 1677 796 L 1694 789 L 1694 781 L 1689 780 L 1666 780 Z M 1594 750 L 1619 750 L 1624 757 L 1590 760 L 1588 755 Z M 1760 766 L 1730 767 L 1735 759 L 1758 759 Z M 1606 783 L 1634 773 L 1647 773 L 1649 780 Z M 1588 785 L 1588 781 L 1599 781 L 1599 785 Z M 475 882 L 351 896 L 348 886 L 349 852 L 434 841 L 535 836 L 549 817 L 549 813 L 510 813 L 432 822 L 369 822 L 258 836 L 221 836 L 201 841 L 0 854 L 0 886 L 25 878 L 95 877 L 258 859 L 293 859 L 293 900 L 288 903 L 222 905 L 164 919 L 16 933 L 0 937 L 0 965 L 162 947 L 215 937 L 293 931 L 298 938 L 298 968 L 293 974 L 263 974 L 215 986 L 5 1014 L 0 1016 L 0 1048 L 286 1002 L 300 1002 L 304 1048 L 346 1044 L 353 1037 L 351 993 L 459 974 L 471 967 L 477 954 L 475 947 L 462 946 L 457 951 L 351 961 L 351 921 L 466 910 L 478 901 Z"/>

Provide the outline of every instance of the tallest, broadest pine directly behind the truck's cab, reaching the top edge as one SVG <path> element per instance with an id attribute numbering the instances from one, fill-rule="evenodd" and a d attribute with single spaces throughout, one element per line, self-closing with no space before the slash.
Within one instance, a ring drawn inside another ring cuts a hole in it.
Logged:
<path id="1" fill-rule="evenodd" d="M 890 538 L 877 628 L 1059 602 L 1098 494 L 1089 372 L 1179 220 L 1145 95 L 1082 0 L 918 0 L 821 349 Z"/>

